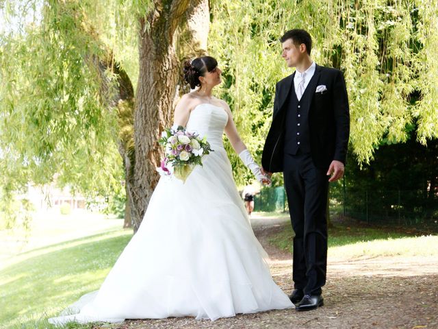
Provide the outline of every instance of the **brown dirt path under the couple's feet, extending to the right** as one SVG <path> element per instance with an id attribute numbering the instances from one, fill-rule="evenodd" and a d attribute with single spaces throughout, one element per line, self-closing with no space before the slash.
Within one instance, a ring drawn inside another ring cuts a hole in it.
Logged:
<path id="1" fill-rule="evenodd" d="M 274 281 L 292 290 L 291 255 L 268 243 L 287 217 L 252 219 L 257 238 L 270 255 Z M 272 310 L 228 319 L 170 318 L 125 321 L 117 328 L 437 328 L 438 259 L 376 257 L 329 258 L 325 306 L 308 312 Z M 103 328 L 103 327 L 96 327 Z"/>

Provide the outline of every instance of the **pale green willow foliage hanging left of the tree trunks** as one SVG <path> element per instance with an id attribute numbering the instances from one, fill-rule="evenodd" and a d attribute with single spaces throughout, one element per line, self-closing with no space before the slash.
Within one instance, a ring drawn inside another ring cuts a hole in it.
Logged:
<path id="1" fill-rule="evenodd" d="M 105 194 L 120 179 L 112 75 L 72 3 L 2 3 L 0 167 L 5 208 L 27 182 Z M 105 84 L 101 84 L 101 79 Z M 101 171 L 101 168 L 107 168 Z M 13 225 L 14 218 L 9 218 Z"/>

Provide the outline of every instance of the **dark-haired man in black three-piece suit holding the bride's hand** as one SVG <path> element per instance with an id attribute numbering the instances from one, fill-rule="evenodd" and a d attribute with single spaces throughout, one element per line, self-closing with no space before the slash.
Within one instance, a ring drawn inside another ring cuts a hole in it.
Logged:
<path id="1" fill-rule="evenodd" d="M 344 175 L 350 114 L 342 72 L 311 60 L 309 33 L 292 29 L 280 40 L 282 57 L 296 71 L 276 84 L 261 164 L 268 175 L 283 171 L 295 232 L 289 298 L 296 310 L 311 310 L 323 305 L 327 195 L 329 182 Z"/>

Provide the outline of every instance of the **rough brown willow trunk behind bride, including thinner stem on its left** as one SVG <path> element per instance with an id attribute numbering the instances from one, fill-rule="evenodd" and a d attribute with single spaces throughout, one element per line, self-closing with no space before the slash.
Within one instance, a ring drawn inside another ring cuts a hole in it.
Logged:
<path id="1" fill-rule="evenodd" d="M 159 179 L 155 168 L 163 152 L 157 140 L 164 127 L 172 124 L 172 109 L 179 96 L 178 90 L 182 90 L 179 88 L 180 62 L 207 51 L 208 0 L 177 0 L 171 1 L 170 8 L 165 7 L 162 1 L 156 1 L 147 20 L 140 19 L 140 74 L 135 105 L 129 77 L 114 65 L 120 95 L 117 104 L 122 132 L 119 153 L 125 167 L 127 191 L 123 227 L 132 226 L 134 233 Z M 178 36 L 175 31 L 181 23 L 186 24 L 175 42 Z M 183 56 L 177 56 L 175 44 L 180 46 L 179 53 L 184 53 Z M 107 67 L 112 65 L 112 59 L 107 63 L 110 63 Z M 122 129 L 129 125 L 133 125 L 132 134 Z"/>

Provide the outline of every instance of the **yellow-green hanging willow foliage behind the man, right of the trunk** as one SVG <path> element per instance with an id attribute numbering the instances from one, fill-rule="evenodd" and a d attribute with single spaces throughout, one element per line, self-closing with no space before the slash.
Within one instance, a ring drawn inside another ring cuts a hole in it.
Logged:
<path id="1" fill-rule="evenodd" d="M 275 83 L 292 73 L 279 42 L 292 28 L 310 32 L 315 62 L 344 71 L 350 160 L 369 164 L 383 138 L 403 143 L 413 123 L 420 143 L 438 137 L 437 1 L 218 0 L 211 12 L 209 47 L 224 71 L 218 93 L 253 153 L 270 126 Z M 236 156 L 232 162 L 245 172 Z"/>

